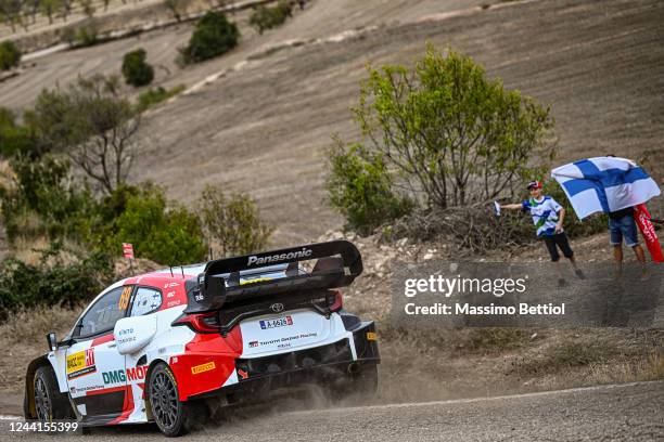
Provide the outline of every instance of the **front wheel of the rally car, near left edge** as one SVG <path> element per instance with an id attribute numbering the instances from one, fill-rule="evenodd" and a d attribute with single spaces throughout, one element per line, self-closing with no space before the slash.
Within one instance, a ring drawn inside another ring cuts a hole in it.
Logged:
<path id="1" fill-rule="evenodd" d="M 67 395 L 60 392 L 55 373 L 50 366 L 43 365 L 35 372 L 33 400 L 35 401 L 35 418 L 37 420 L 50 422 L 73 417 L 72 405 Z"/>

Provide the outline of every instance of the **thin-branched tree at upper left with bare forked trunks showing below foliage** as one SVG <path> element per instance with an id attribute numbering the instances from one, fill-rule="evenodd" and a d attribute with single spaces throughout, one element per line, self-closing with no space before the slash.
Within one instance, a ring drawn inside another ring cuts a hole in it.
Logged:
<path id="1" fill-rule="evenodd" d="M 66 89 L 43 90 L 25 119 L 41 150 L 67 154 L 104 192 L 127 180 L 141 119 L 117 77 L 78 78 Z"/>

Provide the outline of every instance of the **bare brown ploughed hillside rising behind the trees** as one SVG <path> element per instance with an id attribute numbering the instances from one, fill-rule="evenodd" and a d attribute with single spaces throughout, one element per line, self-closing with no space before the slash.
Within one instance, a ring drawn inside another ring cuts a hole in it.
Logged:
<path id="1" fill-rule="evenodd" d="M 157 79 L 166 86 L 191 87 L 226 70 L 146 118 L 133 180 L 163 184 L 186 204 L 206 183 L 248 192 L 277 224 L 279 245 L 310 240 L 340 225 L 323 203 L 330 135 L 357 135 L 348 108 L 367 63 L 410 63 L 425 41 L 471 54 L 509 88 L 550 104 L 560 161 L 661 151 L 664 3 L 526 1 L 488 10 L 459 1 L 408 3 L 317 1 L 283 28 L 263 37 L 245 32 L 232 54 L 178 70 L 173 58 L 189 34 L 183 25 L 49 55 L 1 83 L 0 94 L 3 104 L 24 107 L 40 87 L 64 83 L 78 73 L 116 72 L 122 54 L 137 46 L 164 67 L 157 68 Z M 454 10 L 459 12 L 442 14 Z M 344 30 L 361 26 L 379 28 L 337 42 L 310 41 L 340 40 Z M 266 44 L 292 39 L 309 42 L 244 64 Z"/>

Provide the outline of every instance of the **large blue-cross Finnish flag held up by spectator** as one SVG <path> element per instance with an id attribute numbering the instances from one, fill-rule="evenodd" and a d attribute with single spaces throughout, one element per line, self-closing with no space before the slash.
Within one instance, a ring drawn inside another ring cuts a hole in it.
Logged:
<path id="1" fill-rule="evenodd" d="M 612 212 L 660 195 L 660 186 L 636 162 L 626 158 L 582 159 L 551 171 L 579 219 Z"/>

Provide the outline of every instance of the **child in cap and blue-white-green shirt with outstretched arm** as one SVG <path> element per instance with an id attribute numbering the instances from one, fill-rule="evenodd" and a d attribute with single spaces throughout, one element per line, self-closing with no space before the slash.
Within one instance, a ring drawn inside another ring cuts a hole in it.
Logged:
<path id="1" fill-rule="evenodd" d="M 521 204 L 506 204 L 500 205 L 495 202 L 496 214 L 500 214 L 500 209 L 507 210 L 523 210 L 531 213 L 533 217 L 533 223 L 537 229 L 537 237 L 541 238 L 547 246 L 551 261 L 556 264 L 556 272 L 558 273 L 558 285 L 563 287 L 565 285 L 565 278 L 562 276 L 562 269 L 560 268 L 560 251 L 563 256 L 570 260 L 570 263 L 574 268 L 576 275 L 583 280 L 585 277 L 584 272 L 576 264 L 574 259 L 574 250 L 570 247 L 570 240 L 563 230 L 563 221 L 565 219 L 565 209 L 548 195 L 541 193 L 541 182 L 532 181 L 528 183 L 528 191 L 531 198 L 524 200 Z"/>

